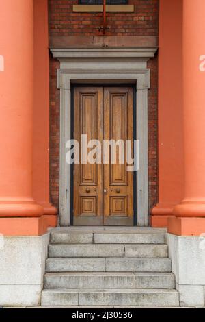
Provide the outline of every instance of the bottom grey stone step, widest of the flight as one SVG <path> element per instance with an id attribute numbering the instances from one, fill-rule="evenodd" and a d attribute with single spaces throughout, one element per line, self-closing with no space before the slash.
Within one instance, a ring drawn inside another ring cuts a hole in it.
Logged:
<path id="1" fill-rule="evenodd" d="M 86 289 L 43 290 L 42 306 L 179 306 L 176 290 Z"/>

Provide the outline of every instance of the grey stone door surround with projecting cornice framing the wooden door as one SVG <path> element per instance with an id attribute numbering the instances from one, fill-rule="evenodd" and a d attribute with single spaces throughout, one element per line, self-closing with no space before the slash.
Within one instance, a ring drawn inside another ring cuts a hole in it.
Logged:
<path id="1" fill-rule="evenodd" d="M 71 137 L 71 87 L 73 83 L 84 83 L 88 86 L 97 83 L 135 84 L 137 102 L 135 135 L 140 141 L 141 151 L 135 193 L 137 225 L 148 226 L 148 89 L 150 88 L 150 69 L 147 68 L 147 61 L 154 57 L 156 50 L 157 47 L 133 47 L 133 49 L 126 47 L 115 49 L 51 48 L 53 57 L 60 61 L 57 86 L 60 90 L 59 224 L 61 226 L 66 227 L 71 223 L 71 166 L 66 164 L 66 142 Z M 112 218 L 109 220 L 111 221 Z"/>

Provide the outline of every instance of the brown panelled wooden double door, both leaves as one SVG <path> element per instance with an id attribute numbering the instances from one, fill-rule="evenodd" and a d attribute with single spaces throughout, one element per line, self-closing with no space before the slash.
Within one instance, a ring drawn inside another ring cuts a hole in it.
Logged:
<path id="1" fill-rule="evenodd" d="M 133 157 L 133 88 L 75 87 L 73 109 L 73 136 L 79 142 L 79 162 L 73 168 L 73 224 L 133 225 L 133 172 L 127 169 L 125 155 L 130 148 Z M 90 140 L 98 140 L 98 146 Z M 111 140 L 115 148 L 108 149 Z M 127 140 L 131 144 L 126 148 Z M 119 142 L 124 142 L 124 160 Z M 92 162 L 85 161 L 85 151 L 92 153 Z"/>

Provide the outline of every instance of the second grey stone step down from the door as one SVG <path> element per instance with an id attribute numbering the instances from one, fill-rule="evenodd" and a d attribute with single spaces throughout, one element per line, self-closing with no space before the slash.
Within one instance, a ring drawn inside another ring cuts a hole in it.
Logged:
<path id="1" fill-rule="evenodd" d="M 49 257 L 167 257 L 167 245 L 49 245 Z"/>

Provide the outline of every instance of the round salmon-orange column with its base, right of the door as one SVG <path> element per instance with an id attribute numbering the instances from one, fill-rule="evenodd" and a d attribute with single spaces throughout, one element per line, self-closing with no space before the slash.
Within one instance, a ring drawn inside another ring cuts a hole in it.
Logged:
<path id="1" fill-rule="evenodd" d="M 185 197 L 174 208 L 169 232 L 205 232 L 205 1 L 184 0 L 184 171 Z"/>

